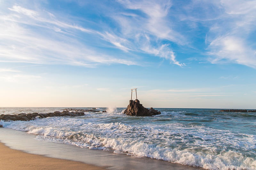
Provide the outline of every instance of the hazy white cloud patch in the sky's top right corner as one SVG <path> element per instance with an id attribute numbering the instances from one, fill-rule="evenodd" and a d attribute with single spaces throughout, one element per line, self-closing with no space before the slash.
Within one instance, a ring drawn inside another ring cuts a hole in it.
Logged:
<path id="1" fill-rule="evenodd" d="M 249 38 L 255 31 L 255 6 L 256 1 L 221 1 L 222 19 L 215 20 L 207 39 L 210 62 L 233 62 L 256 68 L 256 46 Z"/>

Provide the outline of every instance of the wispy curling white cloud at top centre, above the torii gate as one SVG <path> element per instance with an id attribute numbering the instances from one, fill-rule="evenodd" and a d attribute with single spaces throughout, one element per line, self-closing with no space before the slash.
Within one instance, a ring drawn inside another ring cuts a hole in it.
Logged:
<path id="1" fill-rule="evenodd" d="M 170 1 L 129 1 L 118 0 L 125 8 L 143 12 L 145 15 L 135 13 L 115 13 L 111 17 L 121 26 L 121 35 L 130 46 L 129 49 L 153 54 L 157 57 L 170 60 L 171 63 L 185 66 L 184 63 L 177 61 L 174 52 L 168 43 L 161 40 L 170 40 L 178 44 L 184 44 L 184 37 L 171 29 L 170 18 L 167 14 L 172 6 Z M 158 42 L 160 40 L 160 42 Z M 111 41 L 111 40 L 110 40 Z M 134 44 L 133 46 L 131 44 Z M 127 46 L 117 47 L 128 50 Z"/>

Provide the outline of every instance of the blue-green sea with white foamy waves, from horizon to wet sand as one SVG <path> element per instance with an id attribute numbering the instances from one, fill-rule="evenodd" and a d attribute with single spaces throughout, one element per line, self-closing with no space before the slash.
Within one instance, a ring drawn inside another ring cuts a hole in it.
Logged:
<path id="1" fill-rule="evenodd" d="M 66 108 L 1 107 L 0 114 L 50 113 Z M 77 108 L 92 109 L 92 108 Z M 97 108 L 80 117 L 0 121 L 4 128 L 35 134 L 38 141 L 76 145 L 211 170 L 256 169 L 256 113 L 220 109 L 154 108 L 154 117 Z M 102 113 L 107 110 L 106 113 Z M 0 137 L 1 139 L 1 137 Z"/>

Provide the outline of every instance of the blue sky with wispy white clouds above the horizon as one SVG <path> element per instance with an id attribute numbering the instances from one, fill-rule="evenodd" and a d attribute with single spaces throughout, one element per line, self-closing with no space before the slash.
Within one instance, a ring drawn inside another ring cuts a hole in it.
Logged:
<path id="1" fill-rule="evenodd" d="M 0 0 L 0 25 L 0 107 L 256 109 L 255 0 Z"/>

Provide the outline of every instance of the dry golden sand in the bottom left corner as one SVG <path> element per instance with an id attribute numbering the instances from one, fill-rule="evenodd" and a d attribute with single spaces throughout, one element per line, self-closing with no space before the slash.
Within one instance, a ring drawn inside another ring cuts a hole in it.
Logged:
<path id="1" fill-rule="evenodd" d="M 42 155 L 25 153 L 11 149 L 0 143 L 0 167 L 3 170 L 12 169 L 88 169 L 103 170 L 104 167 L 85 164 L 65 159 L 49 158 Z"/>

